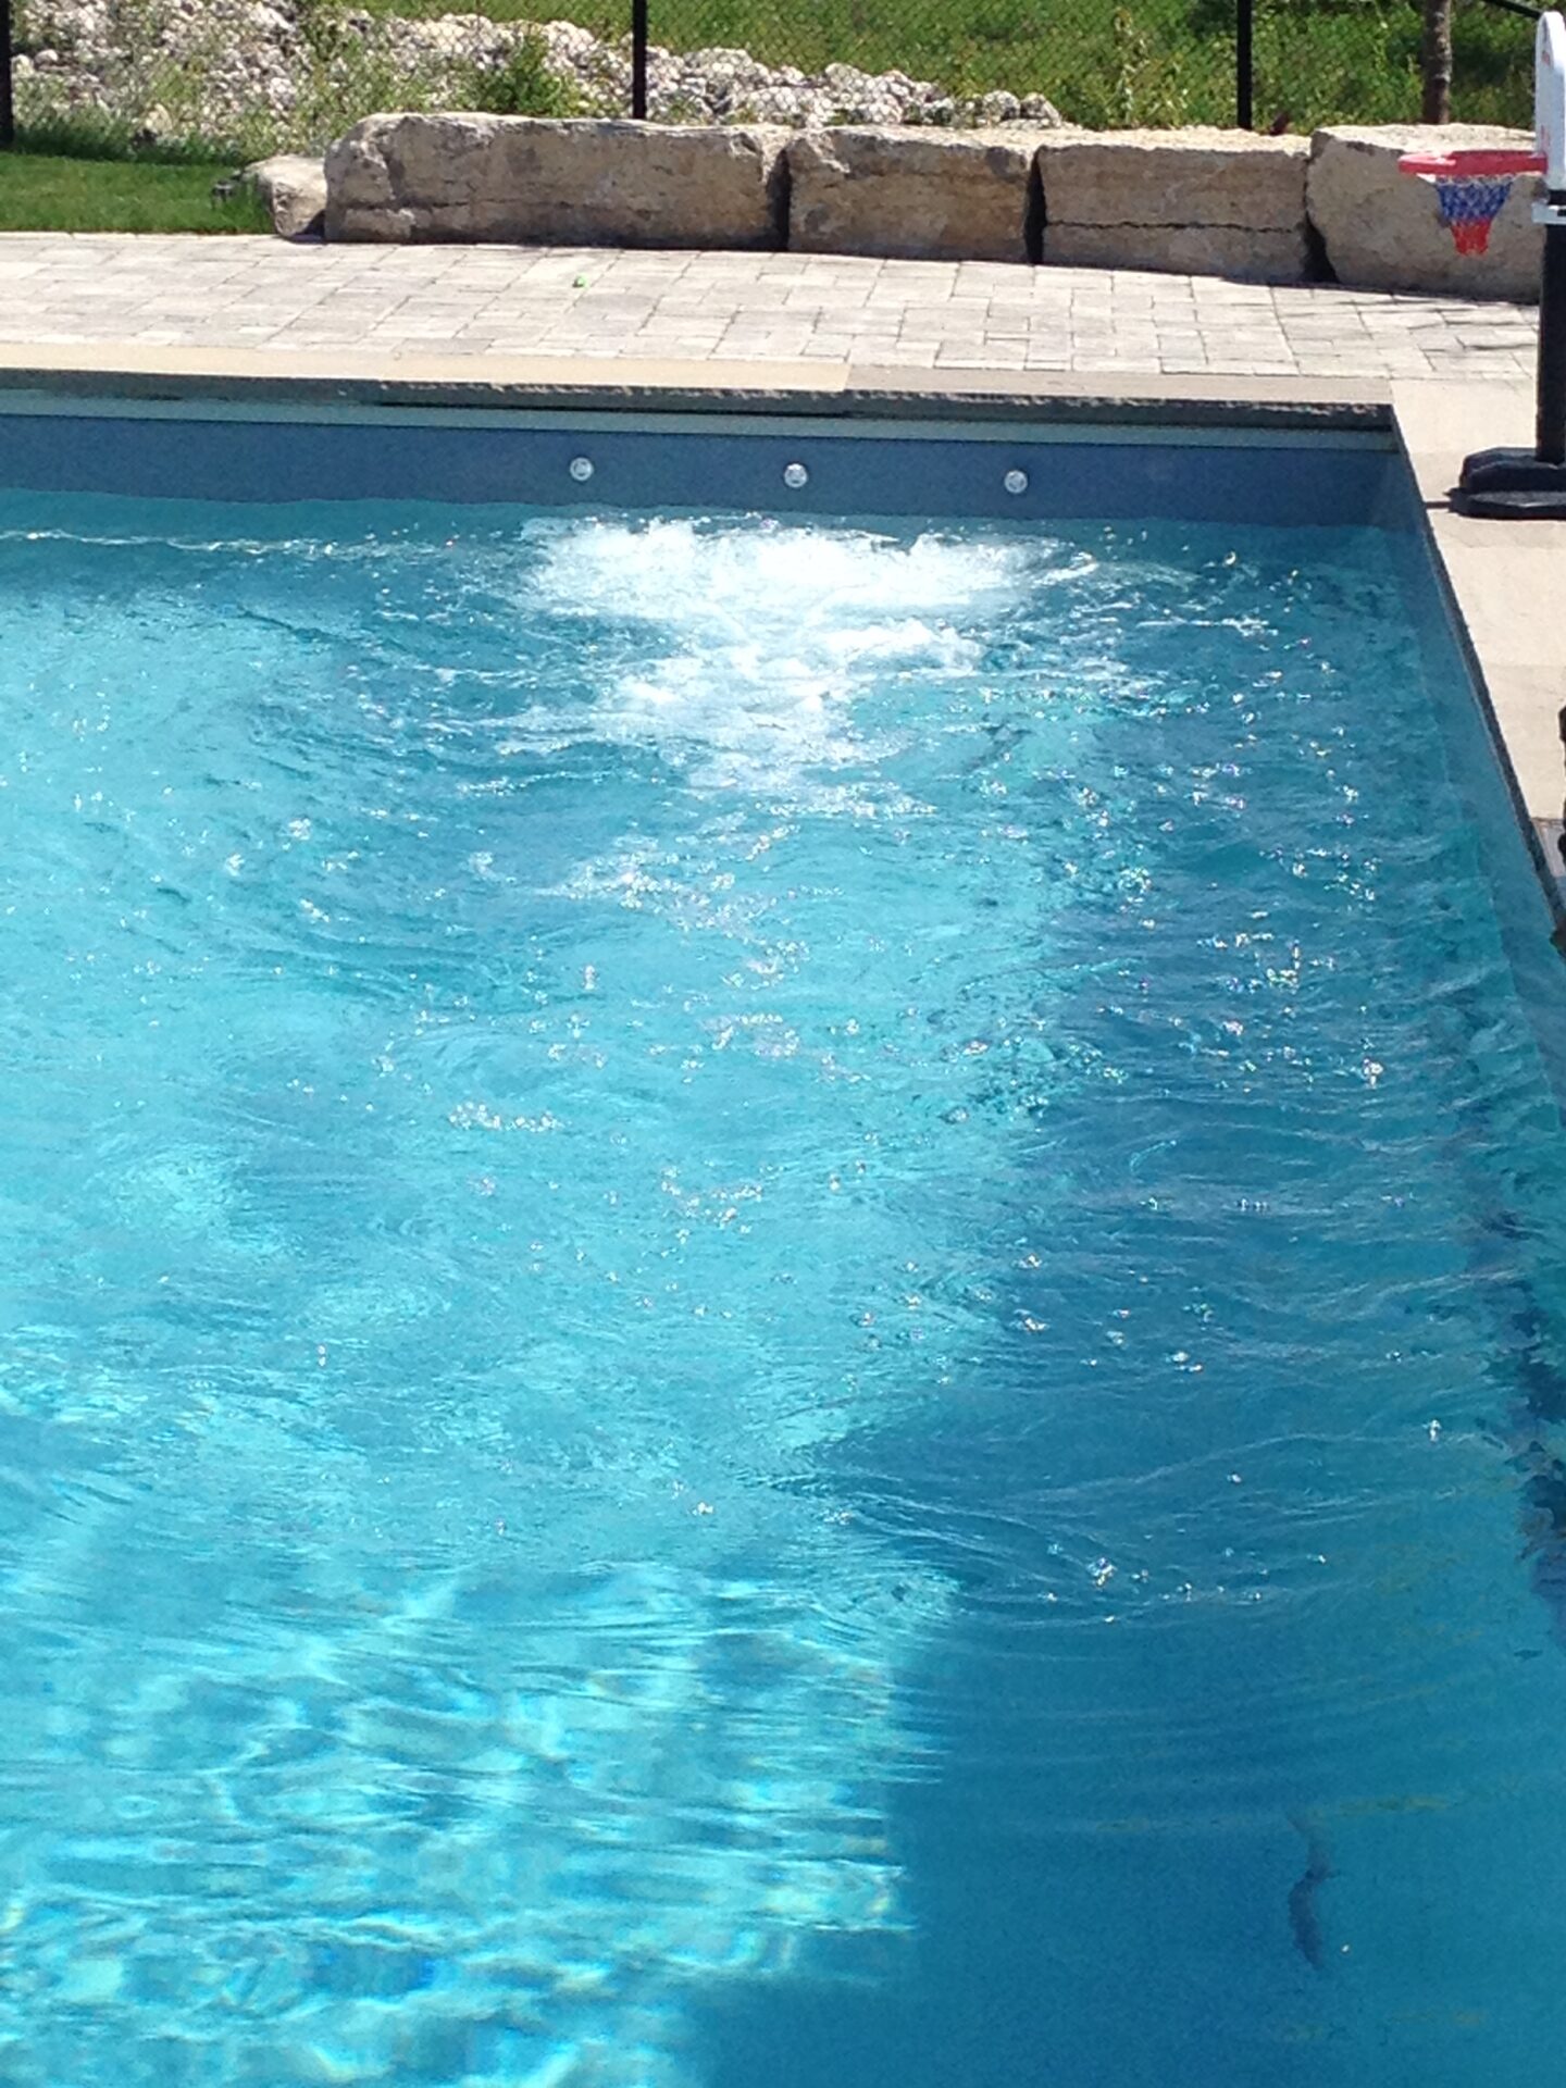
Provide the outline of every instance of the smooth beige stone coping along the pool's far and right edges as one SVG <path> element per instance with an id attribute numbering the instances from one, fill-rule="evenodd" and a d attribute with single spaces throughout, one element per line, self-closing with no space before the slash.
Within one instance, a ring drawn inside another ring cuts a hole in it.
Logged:
<path id="1" fill-rule="evenodd" d="M 1297 376 L 1123 378 L 1063 372 L 908 370 L 875 363 L 614 359 L 549 355 L 397 355 L 355 349 L 0 345 L 0 395 L 288 407 L 294 411 L 464 409 L 679 416 L 810 416 L 1019 422 L 1067 430 L 1211 430 L 1267 441 L 1282 432 L 1395 447 L 1407 466 L 1451 626 L 1489 716 L 1505 779 L 1558 919 L 1566 766 L 1566 618 L 1549 616 L 1566 570 L 1566 522 L 1457 516 L 1462 455 L 1531 443 L 1533 388 L 1518 380 L 1309 380 Z"/>

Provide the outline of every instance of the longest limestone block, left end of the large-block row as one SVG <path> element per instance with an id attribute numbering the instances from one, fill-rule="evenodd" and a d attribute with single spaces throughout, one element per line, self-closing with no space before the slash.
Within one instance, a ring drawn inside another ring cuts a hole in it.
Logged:
<path id="1" fill-rule="evenodd" d="M 781 246 L 787 132 L 380 115 L 326 155 L 332 240 Z"/>

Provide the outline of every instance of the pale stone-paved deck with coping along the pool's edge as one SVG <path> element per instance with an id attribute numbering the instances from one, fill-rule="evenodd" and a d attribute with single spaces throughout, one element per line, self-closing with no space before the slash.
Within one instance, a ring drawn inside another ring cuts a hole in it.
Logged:
<path id="1" fill-rule="evenodd" d="M 1395 428 L 1516 796 L 1560 835 L 1566 522 L 1478 522 L 1462 455 L 1533 438 L 1535 313 L 983 261 L 0 234 L 0 386 L 712 403 Z"/>

